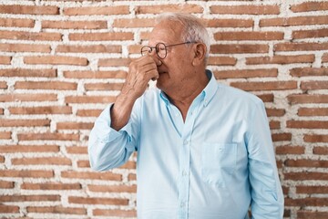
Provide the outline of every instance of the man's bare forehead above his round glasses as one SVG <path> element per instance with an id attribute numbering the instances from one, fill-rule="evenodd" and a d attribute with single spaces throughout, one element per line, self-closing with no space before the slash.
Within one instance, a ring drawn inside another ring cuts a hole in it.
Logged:
<path id="1" fill-rule="evenodd" d="M 179 43 L 182 25 L 177 21 L 164 20 L 153 28 L 149 36 L 149 45 L 163 43 Z"/>

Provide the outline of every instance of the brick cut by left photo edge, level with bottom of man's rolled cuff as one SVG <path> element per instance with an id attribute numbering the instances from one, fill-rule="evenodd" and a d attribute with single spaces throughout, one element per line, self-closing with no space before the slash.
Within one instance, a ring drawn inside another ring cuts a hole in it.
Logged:
<path id="1" fill-rule="evenodd" d="M 1 127 L 36 127 L 50 126 L 50 120 L 10 120 L 0 119 Z"/>

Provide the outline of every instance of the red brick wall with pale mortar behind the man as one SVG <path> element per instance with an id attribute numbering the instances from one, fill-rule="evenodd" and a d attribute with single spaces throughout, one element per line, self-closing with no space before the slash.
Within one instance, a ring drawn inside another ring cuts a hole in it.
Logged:
<path id="1" fill-rule="evenodd" d="M 265 102 L 285 218 L 328 218 L 328 2 L 0 0 L 0 216 L 136 216 L 135 157 L 92 172 L 87 138 L 159 12 L 209 27 L 209 68 Z"/>

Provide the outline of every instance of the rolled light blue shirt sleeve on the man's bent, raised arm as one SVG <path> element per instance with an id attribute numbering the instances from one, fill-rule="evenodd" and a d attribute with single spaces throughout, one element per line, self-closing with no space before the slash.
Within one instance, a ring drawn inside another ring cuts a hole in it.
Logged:
<path id="1" fill-rule="evenodd" d="M 123 165 L 128 162 L 128 158 L 137 148 L 138 113 L 136 113 L 136 107 L 132 110 L 128 124 L 117 131 L 110 127 L 112 106 L 113 104 L 109 104 L 102 111 L 90 132 L 87 152 L 91 169 L 95 171 L 107 171 Z"/>

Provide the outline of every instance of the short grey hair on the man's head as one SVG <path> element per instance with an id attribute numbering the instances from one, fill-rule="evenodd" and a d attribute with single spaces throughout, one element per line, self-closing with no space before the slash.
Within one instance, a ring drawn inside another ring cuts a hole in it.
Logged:
<path id="1" fill-rule="evenodd" d="M 182 34 L 181 40 L 183 42 L 201 42 L 206 46 L 205 62 L 207 61 L 210 53 L 210 36 L 205 26 L 200 23 L 200 20 L 196 16 L 185 13 L 163 13 L 160 14 L 156 22 L 163 20 L 178 21 L 185 27 L 185 33 Z"/>

